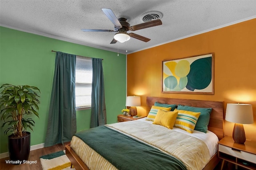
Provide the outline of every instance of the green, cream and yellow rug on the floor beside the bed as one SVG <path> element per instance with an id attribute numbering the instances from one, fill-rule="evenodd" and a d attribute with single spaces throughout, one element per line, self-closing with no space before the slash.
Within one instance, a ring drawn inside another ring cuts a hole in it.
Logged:
<path id="1" fill-rule="evenodd" d="M 65 150 L 54 152 L 40 157 L 43 170 L 75 170 L 65 154 Z"/>

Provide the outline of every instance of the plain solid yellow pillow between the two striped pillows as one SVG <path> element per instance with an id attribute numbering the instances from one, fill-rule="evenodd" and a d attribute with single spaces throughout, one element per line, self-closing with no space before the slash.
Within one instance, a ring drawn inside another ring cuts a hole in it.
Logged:
<path id="1" fill-rule="evenodd" d="M 161 125 L 167 127 L 168 129 L 172 129 L 178 115 L 178 111 L 165 111 L 158 109 L 156 113 L 156 118 L 153 124 Z"/>

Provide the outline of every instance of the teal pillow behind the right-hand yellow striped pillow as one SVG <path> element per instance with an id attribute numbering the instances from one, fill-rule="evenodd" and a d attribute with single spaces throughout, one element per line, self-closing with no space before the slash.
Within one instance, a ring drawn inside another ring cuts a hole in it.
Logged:
<path id="1" fill-rule="evenodd" d="M 192 107 L 192 106 L 182 106 L 178 105 L 178 110 L 187 110 L 193 112 L 200 112 L 200 116 L 196 122 L 196 127 L 194 130 L 207 133 L 208 124 L 210 121 L 210 113 L 212 108 L 201 108 L 201 107 Z"/>

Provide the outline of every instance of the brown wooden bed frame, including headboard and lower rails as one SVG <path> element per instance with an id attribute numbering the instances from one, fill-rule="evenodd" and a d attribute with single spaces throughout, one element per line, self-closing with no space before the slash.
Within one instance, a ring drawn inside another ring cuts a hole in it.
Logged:
<path id="1" fill-rule="evenodd" d="M 180 104 L 186 106 L 193 107 L 205 107 L 212 108 L 212 112 L 210 115 L 210 122 L 208 125 L 208 130 L 215 133 L 218 139 L 222 139 L 224 137 L 223 131 L 223 102 L 214 102 L 214 101 L 206 101 L 206 100 L 189 100 L 189 99 L 174 99 L 174 98 L 160 98 L 160 97 L 147 97 L 146 99 L 146 111 L 147 115 L 154 105 L 155 102 L 164 103 L 164 104 Z M 76 170 L 89 170 L 89 168 L 84 164 L 84 162 L 78 157 L 78 155 L 74 152 L 74 150 L 70 147 L 70 145 L 66 145 L 66 155 L 70 159 L 71 167 L 72 165 Z M 203 170 L 213 170 L 215 166 L 220 162 L 220 158 L 218 158 L 217 153 L 212 156 L 208 164 L 204 167 Z"/>

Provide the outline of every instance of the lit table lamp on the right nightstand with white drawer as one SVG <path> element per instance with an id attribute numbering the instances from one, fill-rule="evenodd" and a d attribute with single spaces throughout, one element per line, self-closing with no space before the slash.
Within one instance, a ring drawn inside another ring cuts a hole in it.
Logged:
<path id="1" fill-rule="evenodd" d="M 253 123 L 252 105 L 227 104 L 225 120 L 235 123 L 232 137 L 236 143 L 243 144 L 246 141 L 243 124 Z"/>

